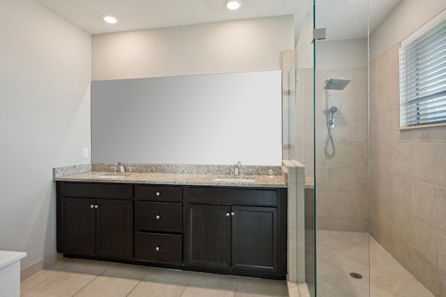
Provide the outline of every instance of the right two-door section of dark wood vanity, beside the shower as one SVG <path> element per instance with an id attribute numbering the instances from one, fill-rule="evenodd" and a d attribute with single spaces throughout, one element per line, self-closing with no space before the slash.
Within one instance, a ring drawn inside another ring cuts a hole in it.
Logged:
<path id="1" fill-rule="evenodd" d="M 284 278 L 285 195 L 282 189 L 187 188 L 186 265 Z"/>

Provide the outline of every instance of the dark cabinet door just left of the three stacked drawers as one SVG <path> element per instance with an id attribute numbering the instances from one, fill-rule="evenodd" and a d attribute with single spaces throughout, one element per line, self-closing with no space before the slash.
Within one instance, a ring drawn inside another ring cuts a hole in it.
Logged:
<path id="1" fill-rule="evenodd" d="M 96 255 L 132 259 L 133 202 L 98 199 L 96 204 Z"/>

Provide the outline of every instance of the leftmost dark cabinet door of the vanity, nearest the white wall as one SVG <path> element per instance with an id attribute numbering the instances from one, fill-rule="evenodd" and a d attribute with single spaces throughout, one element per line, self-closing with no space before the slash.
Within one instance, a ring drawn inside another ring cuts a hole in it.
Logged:
<path id="1" fill-rule="evenodd" d="M 63 252 L 95 255 L 95 200 L 62 198 Z"/>

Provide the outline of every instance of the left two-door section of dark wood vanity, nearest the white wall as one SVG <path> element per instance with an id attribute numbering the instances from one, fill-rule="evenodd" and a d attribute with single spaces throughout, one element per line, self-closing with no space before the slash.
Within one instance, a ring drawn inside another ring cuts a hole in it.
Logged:
<path id="1" fill-rule="evenodd" d="M 123 189 L 101 184 L 97 185 L 98 193 L 95 186 L 59 184 L 58 193 L 65 196 L 58 197 L 57 251 L 67 255 L 132 259 L 133 202 L 128 200 L 128 193 L 122 196 L 126 200 L 93 198 L 121 197 L 115 190 Z"/>

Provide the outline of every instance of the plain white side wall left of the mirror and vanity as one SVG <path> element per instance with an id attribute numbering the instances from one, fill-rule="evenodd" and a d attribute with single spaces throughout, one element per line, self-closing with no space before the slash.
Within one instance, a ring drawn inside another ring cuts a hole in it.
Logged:
<path id="1" fill-rule="evenodd" d="M 52 168 L 90 148 L 91 35 L 33 0 L 0 0 L 0 250 L 55 253 Z"/>

